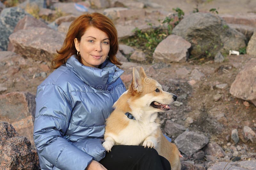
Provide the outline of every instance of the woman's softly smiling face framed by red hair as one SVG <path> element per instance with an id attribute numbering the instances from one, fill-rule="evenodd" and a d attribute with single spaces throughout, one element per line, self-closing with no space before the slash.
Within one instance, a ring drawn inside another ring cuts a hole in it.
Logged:
<path id="1" fill-rule="evenodd" d="M 77 38 L 74 41 L 84 65 L 98 67 L 107 59 L 110 40 L 108 35 L 98 28 L 88 27 L 81 37 L 81 41 L 78 42 Z"/>

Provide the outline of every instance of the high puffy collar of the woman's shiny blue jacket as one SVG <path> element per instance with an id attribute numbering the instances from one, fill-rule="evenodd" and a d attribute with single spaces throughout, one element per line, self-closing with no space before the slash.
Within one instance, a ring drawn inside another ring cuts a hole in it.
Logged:
<path id="1" fill-rule="evenodd" d="M 84 83 L 98 89 L 107 90 L 123 73 L 115 64 L 106 60 L 100 68 L 88 67 L 80 63 L 75 55 L 68 58 L 66 66 L 72 70 Z"/>

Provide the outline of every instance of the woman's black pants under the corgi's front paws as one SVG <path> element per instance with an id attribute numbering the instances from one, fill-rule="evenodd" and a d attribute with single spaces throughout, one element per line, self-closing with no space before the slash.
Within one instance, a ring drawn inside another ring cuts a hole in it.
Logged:
<path id="1" fill-rule="evenodd" d="M 108 170 L 170 170 L 167 159 L 144 146 L 114 145 L 100 163 Z"/>

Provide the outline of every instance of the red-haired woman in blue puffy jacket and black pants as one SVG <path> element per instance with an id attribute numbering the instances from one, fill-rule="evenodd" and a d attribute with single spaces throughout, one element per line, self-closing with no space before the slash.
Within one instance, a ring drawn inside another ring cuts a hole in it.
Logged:
<path id="1" fill-rule="evenodd" d="M 37 87 L 34 141 L 44 169 L 163 169 L 155 149 L 102 146 L 105 119 L 126 90 L 116 58 L 116 28 L 100 13 L 78 17 Z"/>

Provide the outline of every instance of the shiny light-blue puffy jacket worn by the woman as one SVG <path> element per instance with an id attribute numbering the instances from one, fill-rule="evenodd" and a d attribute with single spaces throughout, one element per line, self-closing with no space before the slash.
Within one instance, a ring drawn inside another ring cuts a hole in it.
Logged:
<path id="1" fill-rule="evenodd" d="M 45 169 L 84 170 L 105 156 L 105 119 L 126 90 L 123 70 L 87 67 L 71 56 L 37 87 L 34 141 Z"/>

